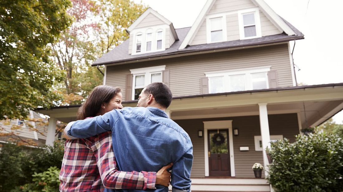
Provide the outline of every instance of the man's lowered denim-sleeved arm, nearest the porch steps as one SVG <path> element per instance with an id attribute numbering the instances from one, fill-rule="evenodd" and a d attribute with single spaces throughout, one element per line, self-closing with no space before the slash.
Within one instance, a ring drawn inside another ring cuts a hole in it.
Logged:
<path id="1" fill-rule="evenodd" d="M 171 186 L 173 192 L 189 192 L 191 187 L 191 169 L 193 164 L 193 145 L 188 137 L 185 146 L 186 152 L 182 157 L 174 163 L 173 171 L 171 172 Z"/>

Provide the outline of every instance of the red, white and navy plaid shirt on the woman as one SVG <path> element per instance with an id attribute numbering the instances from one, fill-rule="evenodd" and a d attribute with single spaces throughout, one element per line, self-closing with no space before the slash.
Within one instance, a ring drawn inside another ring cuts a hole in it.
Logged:
<path id="1" fill-rule="evenodd" d="M 117 170 L 111 132 L 86 139 L 67 140 L 59 179 L 60 191 L 156 189 L 156 172 Z"/>

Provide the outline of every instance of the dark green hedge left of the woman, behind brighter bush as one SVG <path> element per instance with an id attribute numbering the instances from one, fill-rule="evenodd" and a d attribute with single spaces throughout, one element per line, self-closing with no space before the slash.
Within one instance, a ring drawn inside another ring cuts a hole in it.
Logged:
<path id="1" fill-rule="evenodd" d="M 60 169 L 63 146 L 62 142 L 55 142 L 54 148 L 46 146 L 45 149 L 4 144 L 0 153 L 0 192 L 31 183 L 36 178 L 33 176 L 35 172 L 43 173 L 49 167 Z"/>

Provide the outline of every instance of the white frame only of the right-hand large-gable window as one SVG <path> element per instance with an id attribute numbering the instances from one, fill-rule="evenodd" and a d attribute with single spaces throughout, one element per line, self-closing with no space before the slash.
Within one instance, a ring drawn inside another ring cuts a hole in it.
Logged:
<path id="1" fill-rule="evenodd" d="M 245 37 L 245 35 L 244 35 L 243 15 L 250 14 L 250 13 L 254 13 L 254 16 L 255 16 L 256 36 Z M 240 40 L 254 39 L 254 38 L 262 37 L 261 21 L 260 21 L 260 11 L 259 11 L 258 8 L 245 9 L 245 10 L 238 11 L 238 25 L 239 25 L 239 38 L 240 38 Z"/>

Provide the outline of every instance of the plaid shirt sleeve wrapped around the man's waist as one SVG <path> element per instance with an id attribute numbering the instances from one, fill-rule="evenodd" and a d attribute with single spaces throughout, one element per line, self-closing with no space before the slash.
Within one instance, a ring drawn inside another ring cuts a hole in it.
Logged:
<path id="1" fill-rule="evenodd" d="M 112 139 L 107 133 L 100 134 L 91 145 L 105 188 L 156 189 L 156 172 L 122 172 L 118 170 L 112 151 Z"/>

